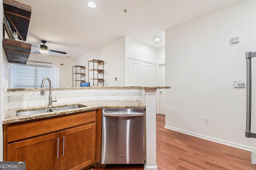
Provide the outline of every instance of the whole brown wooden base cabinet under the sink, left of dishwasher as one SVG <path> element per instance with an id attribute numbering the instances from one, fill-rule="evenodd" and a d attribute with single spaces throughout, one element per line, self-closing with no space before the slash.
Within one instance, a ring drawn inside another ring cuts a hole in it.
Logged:
<path id="1" fill-rule="evenodd" d="M 4 146 L 4 161 L 24 161 L 28 170 L 85 168 L 95 162 L 96 110 L 4 125 Z"/>

